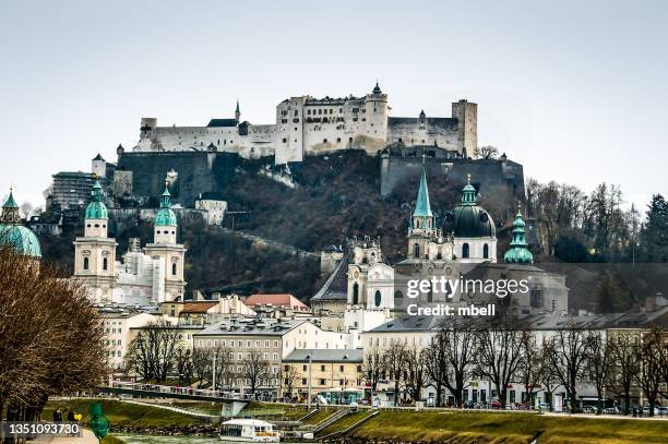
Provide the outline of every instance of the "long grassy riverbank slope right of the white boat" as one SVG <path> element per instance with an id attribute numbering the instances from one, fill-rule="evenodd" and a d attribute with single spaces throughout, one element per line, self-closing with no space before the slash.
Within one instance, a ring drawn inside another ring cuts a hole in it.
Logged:
<path id="1" fill-rule="evenodd" d="M 345 427 L 339 425 L 338 430 Z M 541 444 L 665 443 L 668 421 L 548 417 L 525 413 L 384 411 L 355 435 L 450 443 L 526 443 L 538 431 Z"/>

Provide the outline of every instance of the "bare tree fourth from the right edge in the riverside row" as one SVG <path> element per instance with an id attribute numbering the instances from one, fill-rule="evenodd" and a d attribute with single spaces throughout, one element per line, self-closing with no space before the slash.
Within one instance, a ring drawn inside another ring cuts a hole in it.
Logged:
<path id="1" fill-rule="evenodd" d="M 571 401 L 570 410 L 577 411 L 577 383 L 583 376 L 583 367 L 587 359 L 587 341 L 584 331 L 569 321 L 557 334 L 545 341 L 546 356 L 550 367 Z"/>

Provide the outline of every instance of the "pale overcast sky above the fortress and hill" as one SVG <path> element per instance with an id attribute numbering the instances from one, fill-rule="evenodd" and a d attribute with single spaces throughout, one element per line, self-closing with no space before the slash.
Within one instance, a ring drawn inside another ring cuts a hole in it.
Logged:
<path id="1" fill-rule="evenodd" d="M 393 116 L 478 104 L 478 143 L 525 176 L 668 194 L 661 1 L 4 1 L 0 195 L 134 146 L 140 119 L 273 123 L 286 97 L 362 95 Z M 438 199 L 438 196 L 436 197 Z"/>

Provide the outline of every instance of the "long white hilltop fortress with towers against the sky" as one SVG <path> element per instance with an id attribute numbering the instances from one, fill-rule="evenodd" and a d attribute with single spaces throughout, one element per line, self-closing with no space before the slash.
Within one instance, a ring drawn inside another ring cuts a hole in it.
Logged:
<path id="1" fill-rule="evenodd" d="M 135 152 L 214 151 L 244 158 L 274 156 L 276 165 L 302 161 L 307 155 L 342 149 L 375 154 L 387 144 L 439 146 L 467 157 L 478 143 L 478 106 L 465 99 L 452 104 L 452 117 L 392 117 L 378 83 L 371 93 L 355 97 L 290 97 L 276 107 L 276 123 L 241 120 L 239 103 L 234 119 L 212 119 L 206 127 L 158 127 L 142 118 Z"/>

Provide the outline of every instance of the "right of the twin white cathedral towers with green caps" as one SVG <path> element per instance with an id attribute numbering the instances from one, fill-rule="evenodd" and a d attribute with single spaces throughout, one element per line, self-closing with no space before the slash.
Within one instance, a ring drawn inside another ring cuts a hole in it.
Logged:
<path id="1" fill-rule="evenodd" d="M 183 266 L 186 262 L 186 248 L 177 243 L 177 218 L 171 209 L 171 194 L 165 183 L 165 191 L 160 201 L 160 209 L 155 216 L 153 227 L 153 243 L 145 248 L 147 255 L 160 264 L 165 283 L 165 299 L 174 301 L 183 298 L 186 280 Z M 164 301 L 155 301 L 164 302 Z"/>

